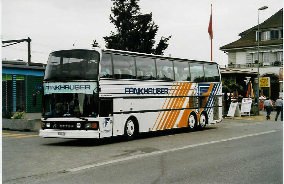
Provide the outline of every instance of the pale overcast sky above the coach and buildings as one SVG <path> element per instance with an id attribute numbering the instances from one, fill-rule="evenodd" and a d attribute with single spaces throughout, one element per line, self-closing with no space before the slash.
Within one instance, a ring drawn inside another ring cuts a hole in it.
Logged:
<path id="1" fill-rule="evenodd" d="M 155 37 L 172 38 L 165 56 L 210 61 L 209 17 L 213 4 L 213 61 L 228 64 L 221 46 L 238 40 L 239 33 L 268 19 L 283 7 L 283 0 L 140 0 L 140 12 L 153 13 L 159 26 Z M 110 23 L 110 0 L 3 0 L 3 41 L 31 38 L 31 62 L 46 63 L 57 48 L 91 46 L 116 31 Z M 2 44 L 3 45 L 3 44 Z M 7 45 L 7 44 L 4 44 Z M 28 61 L 27 42 L 2 48 L 3 59 Z"/>

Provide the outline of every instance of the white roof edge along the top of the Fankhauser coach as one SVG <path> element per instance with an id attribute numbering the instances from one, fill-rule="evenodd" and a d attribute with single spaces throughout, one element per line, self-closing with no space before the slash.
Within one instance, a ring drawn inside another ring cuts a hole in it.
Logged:
<path id="1" fill-rule="evenodd" d="M 175 61 L 187 61 L 187 62 L 192 61 L 192 62 L 217 64 L 217 62 L 211 62 L 211 61 L 198 61 L 198 60 L 191 60 L 191 59 L 185 59 L 185 58 L 161 56 L 161 55 L 146 54 L 146 53 L 140 53 L 140 52 L 122 51 L 122 50 L 107 49 L 107 48 L 100 48 L 100 47 L 73 46 L 73 47 L 56 49 L 56 50 L 53 50 L 52 52 L 63 51 L 63 50 L 95 50 L 95 51 L 103 52 L 103 53 L 117 53 L 117 54 L 131 55 L 131 56 L 144 56 L 144 57 L 146 56 L 146 57 L 152 57 L 156 59 L 159 58 L 159 59 L 167 59 L 167 60 L 175 60 Z"/>

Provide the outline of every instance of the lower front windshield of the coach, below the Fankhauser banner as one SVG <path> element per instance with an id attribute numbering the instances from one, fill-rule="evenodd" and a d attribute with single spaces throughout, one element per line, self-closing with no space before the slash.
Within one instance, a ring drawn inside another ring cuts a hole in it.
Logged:
<path id="1" fill-rule="evenodd" d="M 49 117 L 97 117 L 96 95 L 84 93 L 51 93 L 43 97 L 43 116 Z"/>

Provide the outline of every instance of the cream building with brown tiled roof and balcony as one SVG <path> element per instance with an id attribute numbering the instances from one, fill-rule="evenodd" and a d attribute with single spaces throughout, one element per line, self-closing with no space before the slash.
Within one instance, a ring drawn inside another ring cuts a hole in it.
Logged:
<path id="1" fill-rule="evenodd" d="M 219 48 L 228 54 L 228 65 L 220 66 L 222 76 L 233 76 L 246 89 L 246 84 L 243 84 L 245 77 L 257 78 L 259 62 L 260 77 L 270 77 L 270 87 L 261 87 L 259 93 L 271 96 L 273 100 L 278 99 L 283 92 L 280 74 L 283 68 L 283 8 L 260 23 L 259 32 L 258 25 L 255 25 L 239 33 L 239 36 L 239 40 Z M 256 90 L 256 84 L 254 88 Z"/>

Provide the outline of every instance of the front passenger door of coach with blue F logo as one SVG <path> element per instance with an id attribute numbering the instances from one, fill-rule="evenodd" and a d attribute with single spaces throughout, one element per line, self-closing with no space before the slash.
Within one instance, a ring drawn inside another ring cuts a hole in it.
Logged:
<path id="1" fill-rule="evenodd" d="M 113 135 L 113 99 L 100 99 L 100 138 Z"/>

